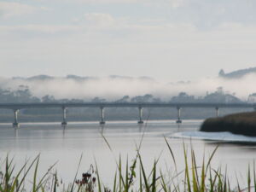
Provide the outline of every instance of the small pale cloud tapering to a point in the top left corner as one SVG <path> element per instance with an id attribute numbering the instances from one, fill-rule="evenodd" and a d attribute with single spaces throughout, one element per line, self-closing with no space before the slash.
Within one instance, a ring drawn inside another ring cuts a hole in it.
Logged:
<path id="1" fill-rule="evenodd" d="M 15 2 L 0 2 L 0 17 L 10 18 L 20 15 L 28 15 L 37 12 L 38 10 L 46 10 L 47 8 L 33 7 L 31 5 Z"/>

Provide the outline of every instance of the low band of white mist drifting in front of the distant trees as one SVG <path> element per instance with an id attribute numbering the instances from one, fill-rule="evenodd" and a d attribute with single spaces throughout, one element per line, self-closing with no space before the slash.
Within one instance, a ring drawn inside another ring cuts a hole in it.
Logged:
<path id="1" fill-rule="evenodd" d="M 108 101 L 117 100 L 123 96 L 143 96 L 151 94 L 163 101 L 170 101 L 172 96 L 186 92 L 193 96 L 206 96 L 218 87 L 223 87 L 225 93 L 237 96 L 243 101 L 256 92 L 256 74 L 248 74 L 240 79 L 202 78 L 193 82 L 160 82 L 147 77 L 130 78 L 110 76 L 106 78 L 67 76 L 64 78 L 35 76 L 32 78 L 0 79 L 0 88 L 17 90 L 25 85 L 33 96 L 55 96 L 56 99 L 83 99 L 90 101 L 94 97 L 105 98 Z"/>

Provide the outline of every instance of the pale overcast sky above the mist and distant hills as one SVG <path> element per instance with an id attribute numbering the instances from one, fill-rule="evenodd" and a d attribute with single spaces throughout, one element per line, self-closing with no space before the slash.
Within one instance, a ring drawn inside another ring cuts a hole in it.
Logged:
<path id="1" fill-rule="evenodd" d="M 256 67 L 255 0 L 0 1 L 0 76 L 194 80 Z"/>

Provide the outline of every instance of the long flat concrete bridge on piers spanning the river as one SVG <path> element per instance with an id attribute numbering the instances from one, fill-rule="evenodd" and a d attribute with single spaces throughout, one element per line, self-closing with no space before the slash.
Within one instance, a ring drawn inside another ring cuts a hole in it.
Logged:
<path id="1" fill-rule="evenodd" d="M 256 103 L 216 103 L 216 102 L 34 102 L 34 103 L 0 103 L 0 108 L 14 111 L 14 127 L 19 127 L 18 113 L 24 108 L 61 108 L 61 125 L 67 125 L 67 108 L 99 108 L 100 124 L 105 124 L 104 108 L 138 108 L 138 124 L 143 124 L 143 108 L 177 108 L 177 123 L 182 123 L 182 108 L 214 108 L 218 117 L 219 108 L 253 108 L 256 110 Z"/>

